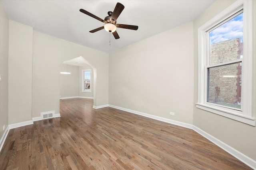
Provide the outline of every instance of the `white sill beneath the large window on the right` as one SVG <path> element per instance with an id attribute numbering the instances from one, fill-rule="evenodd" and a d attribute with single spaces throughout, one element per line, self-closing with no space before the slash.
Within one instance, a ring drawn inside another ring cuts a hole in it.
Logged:
<path id="1" fill-rule="evenodd" d="M 232 113 L 231 111 L 227 111 L 227 110 L 224 110 L 224 109 L 209 106 L 207 104 L 196 103 L 196 107 L 199 108 L 199 109 L 210 111 L 210 112 L 218 114 L 218 115 L 222 115 L 224 117 L 228 117 L 230 119 L 234 119 L 236 121 L 240 121 L 242 123 L 246 123 L 248 125 L 255 126 L 255 118 L 253 118 L 253 117 L 247 117 L 247 116 L 244 116 L 244 115 L 239 115 L 237 113 Z"/>

